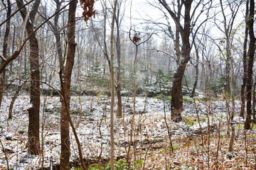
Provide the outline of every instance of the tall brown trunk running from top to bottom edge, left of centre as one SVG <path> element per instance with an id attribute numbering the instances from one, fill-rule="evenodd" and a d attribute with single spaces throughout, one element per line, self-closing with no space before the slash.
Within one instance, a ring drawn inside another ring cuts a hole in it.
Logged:
<path id="1" fill-rule="evenodd" d="M 70 137 L 69 137 L 69 120 L 68 111 L 70 111 L 70 82 L 75 59 L 75 11 L 78 1 L 70 0 L 68 11 L 68 54 L 65 68 L 60 66 L 63 70 L 63 88 L 61 93 L 65 93 L 65 101 L 61 100 L 60 112 L 60 170 L 70 169 Z M 61 63 L 60 63 L 61 64 Z M 65 108 L 67 106 L 68 108 Z"/>

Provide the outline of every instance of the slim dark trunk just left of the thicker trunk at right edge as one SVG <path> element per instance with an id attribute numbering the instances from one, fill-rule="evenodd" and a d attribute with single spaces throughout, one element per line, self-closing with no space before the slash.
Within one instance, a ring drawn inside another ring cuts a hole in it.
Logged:
<path id="1" fill-rule="evenodd" d="M 246 2 L 246 11 L 245 18 L 248 17 L 249 13 L 249 1 Z M 242 86 L 241 86 L 241 109 L 240 117 L 245 117 L 245 86 L 246 86 L 246 77 L 247 77 L 247 39 L 248 39 L 248 20 L 245 20 L 245 40 L 243 43 L 243 54 L 242 54 L 242 66 L 243 66 L 243 75 L 242 75 Z"/>

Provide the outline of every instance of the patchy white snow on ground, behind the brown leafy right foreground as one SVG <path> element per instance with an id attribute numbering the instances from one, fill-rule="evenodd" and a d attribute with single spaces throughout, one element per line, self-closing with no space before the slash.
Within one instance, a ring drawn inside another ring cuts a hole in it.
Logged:
<path id="1" fill-rule="evenodd" d="M 117 157 L 125 157 L 128 143 L 130 124 L 133 114 L 133 98 L 123 97 L 124 118 L 115 118 L 114 132 Z M 19 96 L 14 105 L 12 120 L 8 120 L 9 104 L 11 96 L 4 96 L 0 110 L 0 139 L 8 152 L 9 166 L 13 169 L 38 169 L 49 166 L 50 157 L 53 164 L 58 164 L 60 159 L 60 98 L 41 97 L 41 132 L 42 122 L 43 154 L 40 156 L 29 155 L 26 149 L 29 96 Z M 201 128 L 207 128 L 207 115 L 210 125 L 217 125 L 218 120 L 225 123 L 226 111 L 223 101 L 203 103 L 184 103 L 183 123 L 171 123 L 169 103 L 156 98 L 136 98 L 136 116 L 134 125 L 134 140 L 138 146 L 144 149 L 144 144 L 156 141 L 168 140 L 166 122 L 172 134 L 172 140 L 180 140 L 188 135 L 195 135 Z M 77 126 L 78 137 L 82 145 L 83 157 L 95 159 L 102 153 L 102 159 L 108 159 L 110 155 L 110 98 L 107 96 L 74 96 L 71 98 L 70 110 L 74 124 Z M 240 103 L 236 102 L 236 111 Z M 115 106 L 115 110 L 116 110 Z M 197 122 L 198 113 L 201 125 Z M 166 121 L 165 121 L 166 114 Z M 218 116 L 218 119 L 217 119 Z M 44 120 L 44 121 L 43 121 Z M 235 117 L 235 120 L 241 120 Z M 78 124 L 79 123 L 79 124 Z M 70 128 L 71 137 L 71 162 L 78 158 L 78 149 Z M 101 132 L 101 136 L 100 136 Z M 141 144 L 141 145 L 139 145 Z M 102 146 L 102 147 L 101 147 Z M 150 164 L 150 163 L 149 163 Z M 6 168 L 6 158 L 1 147 L 0 169 Z"/>

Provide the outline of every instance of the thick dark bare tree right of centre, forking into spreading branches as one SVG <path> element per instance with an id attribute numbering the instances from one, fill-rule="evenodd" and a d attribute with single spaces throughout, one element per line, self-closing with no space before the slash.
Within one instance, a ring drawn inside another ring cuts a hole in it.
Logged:
<path id="1" fill-rule="evenodd" d="M 179 19 L 178 13 L 175 9 L 171 9 L 171 6 L 175 6 L 174 1 L 171 4 L 167 4 L 166 0 L 159 0 L 159 3 L 164 6 L 166 11 L 168 11 L 171 18 L 174 20 L 176 24 L 176 28 L 181 35 L 182 45 L 181 45 L 181 59 L 178 61 L 178 66 L 176 72 L 174 73 L 174 81 L 173 87 L 171 92 L 171 119 L 175 122 L 180 122 L 181 112 L 183 111 L 183 94 L 182 94 L 182 79 L 183 74 L 186 69 L 186 64 L 190 60 L 190 52 L 191 52 L 191 45 L 190 45 L 190 35 L 191 35 L 191 28 L 195 26 L 196 21 L 198 20 L 199 16 L 206 8 L 202 8 L 201 12 L 196 16 L 196 20 L 191 24 L 192 19 L 195 17 L 196 10 L 202 4 L 202 0 L 198 1 L 196 6 L 191 11 L 192 0 L 186 1 L 179 1 L 178 4 L 181 6 L 181 10 L 183 9 L 183 24 Z M 208 3 L 206 3 L 208 4 Z M 204 4 L 204 6 L 206 5 Z M 184 8 L 183 8 L 184 7 Z M 201 25 L 199 25 L 200 27 Z M 196 35 L 196 33 L 195 33 Z"/>

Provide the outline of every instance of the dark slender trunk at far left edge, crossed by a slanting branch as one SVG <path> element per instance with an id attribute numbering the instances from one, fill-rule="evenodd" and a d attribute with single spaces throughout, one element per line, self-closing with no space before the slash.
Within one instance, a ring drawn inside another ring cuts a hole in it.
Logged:
<path id="1" fill-rule="evenodd" d="M 4 4 L 4 1 L 2 1 Z M 6 4 L 4 4 L 6 6 Z M 11 16 L 11 2 L 10 0 L 7 0 L 7 13 L 6 18 L 9 18 Z M 3 45 L 3 57 L 6 59 L 7 56 L 7 47 L 9 45 L 8 38 L 10 33 L 10 23 L 11 18 L 6 22 L 6 30 L 4 33 L 4 45 Z M 4 59 L 1 60 L 2 63 L 4 62 Z M 6 69 L 4 69 L 4 72 L 1 73 L 1 81 L 0 81 L 0 108 L 1 108 L 1 102 L 4 97 L 4 89 L 5 89 L 5 81 L 6 81 Z"/>

